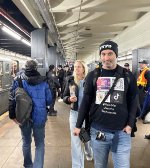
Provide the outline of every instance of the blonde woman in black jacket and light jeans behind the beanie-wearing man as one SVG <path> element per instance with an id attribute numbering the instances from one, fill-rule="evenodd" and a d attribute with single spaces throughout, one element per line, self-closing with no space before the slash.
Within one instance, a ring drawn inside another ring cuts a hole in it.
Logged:
<path id="1" fill-rule="evenodd" d="M 79 137 L 73 135 L 78 117 L 78 109 L 82 101 L 84 90 L 84 79 L 87 75 L 87 66 L 84 61 L 76 60 L 74 64 L 73 76 L 71 76 L 66 84 L 63 94 L 63 101 L 71 104 L 70 110 L 70 132 L 71 132 L 71 156 L 72 168 L 84 168 L 84 151 L 87 160 L 92 160 L 92 149 L 90 142 L 82 144 Z"/>

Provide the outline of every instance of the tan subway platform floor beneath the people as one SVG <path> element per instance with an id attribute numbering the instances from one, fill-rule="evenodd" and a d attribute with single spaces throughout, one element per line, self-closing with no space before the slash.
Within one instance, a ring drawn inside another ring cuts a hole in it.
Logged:
<path id="1" fill-rule="evenodd" d="M 44 168 L 71 168 L 69 106 L 56 103 L 57 117 L 48 117 L 46 124 L 46 149 Z M 150 124 L 138 121 L 138 132 L 132 139 L 131 168 L 150 168 Z M 0 116 L 0 168 L 23 168 L 20 129 L 8 118 Z M 32 144 L 34 157 L 34 143 Z M 93 162 L 85 161 L 85 168 L 94 168 Z M 109 168 L 113 168 L 109 158 Z"/>

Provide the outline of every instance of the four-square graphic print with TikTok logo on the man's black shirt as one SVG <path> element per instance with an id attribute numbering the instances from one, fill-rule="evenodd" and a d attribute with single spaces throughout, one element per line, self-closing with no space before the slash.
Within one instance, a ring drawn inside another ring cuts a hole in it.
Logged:
<path id="1" fill-rule="evenodd" d="M 97 91 L 95 101 L 96 104 L 100 104 L 102 102 L 107 92 L 112 87 L 114 80 L 115 77 L 99 77 L 97 79 L 96 82 Z M 124 78 L 120 78 L 117 81 L 113 93 L 108 96 L 105 102 L 121 104 L 123 102 L 123 93 L 124 93 Z"/>

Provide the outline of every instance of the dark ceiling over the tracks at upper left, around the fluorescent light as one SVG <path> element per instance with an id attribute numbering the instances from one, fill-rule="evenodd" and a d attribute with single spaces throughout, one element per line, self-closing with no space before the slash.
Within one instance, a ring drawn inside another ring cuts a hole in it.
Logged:
<path id="1" fill-rule="evenodd" d="M 31 56 L 31 47 L 3 31 L 3 25 L 30 42 L 30 32 L 34 27 L 11 0 L 0 0 L 0 48 Z"/>

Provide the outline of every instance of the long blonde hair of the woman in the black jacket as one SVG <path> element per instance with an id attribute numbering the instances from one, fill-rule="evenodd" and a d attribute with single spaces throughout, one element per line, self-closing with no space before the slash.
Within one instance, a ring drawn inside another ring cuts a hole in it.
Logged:
<path id="1" fill-rule="evenodd" d="M 87 65 L 86 65 L 85 62 L 82 61 L 82 60 L 76 60 L 76 61 L 75 61 L 75 64 L 76 64 L 77 62 L 81 63 L 82 66 L 83 66 L 83 69 L 84 69 L 83 79 L 85 79 L 85 77 L 86 77 L 86 75 L 87 75 L 87 73 L 88 73 Z M 78 76 L 76 75 L 75 68 L 74 68 L 74 71 L 73 71 L 73 76 L 74 76 L 74 82 L 78 85 L 78 84 L 79 84 L 79 81 L 80 81 L 81 79 L 79 79 Z"/>

